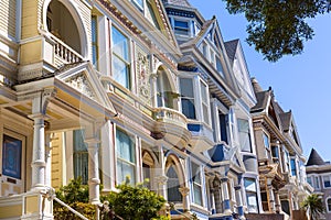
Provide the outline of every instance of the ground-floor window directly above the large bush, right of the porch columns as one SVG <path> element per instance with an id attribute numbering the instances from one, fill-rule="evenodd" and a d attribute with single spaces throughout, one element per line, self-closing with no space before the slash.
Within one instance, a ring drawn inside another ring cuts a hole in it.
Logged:
<path id="1" fill-rule="evenodd" d="M 136 151 L 135 143 L 127 133 L 116 130 L 117 150 L 117 184 L 121 184 L 127 177 L 130 184 L 136 183 Z"/>

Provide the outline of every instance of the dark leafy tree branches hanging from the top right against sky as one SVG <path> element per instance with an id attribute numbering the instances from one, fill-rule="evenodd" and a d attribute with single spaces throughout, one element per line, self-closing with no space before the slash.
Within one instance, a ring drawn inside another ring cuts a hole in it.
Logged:
<path id="1" fill-rule="evenodd" d="M 229 13 L 244 13 L 247 43 L 269 62 L 303 51 L 313 30 L 307 19 L 330 11 L 331 0 L 223 0 Z"/>

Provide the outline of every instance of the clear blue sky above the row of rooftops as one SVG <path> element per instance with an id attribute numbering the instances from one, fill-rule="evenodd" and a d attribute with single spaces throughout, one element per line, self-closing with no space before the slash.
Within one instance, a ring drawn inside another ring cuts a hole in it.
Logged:
<path id="1" fill-rule="evenodd" d="M 222 0 L 190 0 L 201 14 L 218 20 L 224 41 L 239 38 L 248 70 L 264 89 L 274 89 L 285 111 L 292 110 L 307 160 L 314 147 L 324 161 L 331 161 L 331 14 L 309 20 L 314 37 L 305 52 L 277 63 L 264 61 L 245 42 L 247 21 L 243 14 L 228 14 Z"/>

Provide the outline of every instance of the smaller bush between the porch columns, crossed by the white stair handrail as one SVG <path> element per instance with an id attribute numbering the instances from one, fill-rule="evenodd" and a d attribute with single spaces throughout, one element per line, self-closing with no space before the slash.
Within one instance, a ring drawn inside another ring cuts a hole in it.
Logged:
<path id="1" fill-rule="evenodd" d="M 88 219 L 95 219 L 95 206 L 88 204 L 88 186 L 82 185 L 82 178 L 72 179 L 67 186 L 56 190 L 56 197 Z M 67 208 L 54 201 L 54 219 L 77 219 Z"/>

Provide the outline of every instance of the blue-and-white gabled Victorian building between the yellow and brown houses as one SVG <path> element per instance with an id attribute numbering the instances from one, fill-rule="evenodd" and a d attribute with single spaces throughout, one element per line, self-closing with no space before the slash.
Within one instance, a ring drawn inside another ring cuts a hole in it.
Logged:
<path id="1" fill-rule="evenodd" d="M 216 18 L 204 20 L 185 0 L 163 0 L 163 4 L 183 54 L 178 69 L 182 113 L 192 134 L 188 152 L 203 167 L 206 183 L 202 187 L 206 204 L 196 202 L 192 179 L 191 211 L 200 219 L 258 213 L 249 112 L 256 98 L 239 41 L 224 42 Z"/>

